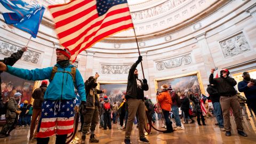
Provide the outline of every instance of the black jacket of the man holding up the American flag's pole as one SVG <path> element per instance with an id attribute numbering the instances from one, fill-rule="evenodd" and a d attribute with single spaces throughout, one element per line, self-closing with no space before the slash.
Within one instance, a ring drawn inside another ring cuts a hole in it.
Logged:
<path id="1" fill-rule="evenodd" d="M 134 70 L 136 69 L 136 67 L 139 65 L 140 61 L 137 60 L 131 67 L 131 69 L 129 70 L 129 75 L 128 75 L 128 82 L 127 82 L 127 88 L 126 88 L 126 95 L 125 98 L 126 100 L 129 98 L 137 98 L 137 76 L 134 75 Z M 143 91 L 147 91 L 148 90 L 148 84 L 147 83 L 143 83 L 140 79 L 139 81 L 141 82 L 141 88 Z M 144 94 L 142 95 L 144 100 Z"/>

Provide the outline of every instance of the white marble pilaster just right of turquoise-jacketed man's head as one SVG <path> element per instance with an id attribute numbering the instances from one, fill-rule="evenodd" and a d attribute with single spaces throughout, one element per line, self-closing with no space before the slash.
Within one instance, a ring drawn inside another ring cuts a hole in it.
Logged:
<path id="1" fill-rule="evenodd" d="M 86 51 L 86 52 L 87 52 L 87 58 L 86 58 L 84 81 L 86 81 L 90 76 L 94 76 L 92 75 L 94 52 L 92 51 Z"/>

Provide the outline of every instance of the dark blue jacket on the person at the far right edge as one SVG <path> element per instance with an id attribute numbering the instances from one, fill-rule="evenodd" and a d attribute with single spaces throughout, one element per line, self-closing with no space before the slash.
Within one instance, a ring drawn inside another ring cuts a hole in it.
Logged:
<path id="1" fill-rule="evenodd" d="M 244 92 L 244 95 L 247 100 L 256 100 L 256 85 L 253 85 L 252 87 L 248 87 L 247 84 L 249 82 L 247 81 L 241 81 L 238 83 L 238 91 Z"/>

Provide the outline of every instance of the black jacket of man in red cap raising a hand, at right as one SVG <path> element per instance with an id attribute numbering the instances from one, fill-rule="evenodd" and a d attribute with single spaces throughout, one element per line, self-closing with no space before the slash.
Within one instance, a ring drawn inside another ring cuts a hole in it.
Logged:
<path id="1" fill-rule="evenodd" d="M 236 90 L 234 86 L 236 85 L 236 81 L 234 78 L 231 77 L 218 77 L 213 78 L 213 74 L 209 77 L 209 83 L 214 84 L 216 89 L 218 90 L 221 96 L 228 96 L 228 95 L 235 95 Z"/>

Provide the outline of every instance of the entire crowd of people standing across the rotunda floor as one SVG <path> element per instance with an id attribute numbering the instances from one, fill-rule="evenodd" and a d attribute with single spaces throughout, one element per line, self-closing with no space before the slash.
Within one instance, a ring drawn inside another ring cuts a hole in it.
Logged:
<path id="1" fill-rule="evenodd" d="M 26 51 L 26 47 L 23 51 Z M 118 124 L 118 129 L 125 131 L 125 144 L 131 143 L 133 124 L 138 124 L 139 142 L 149 143 L 144 132 L 147 124 L 145 122 L 152 121 L 151 125 L 154 125 L 156 121 L 161 121 L 161 127 L 166 129 L 163 133 L 172 133 L 175 130 L 185 129 L 185 126 L 182 126 L 181 117 L 184 125 L 189 122 L 195 123 L 193 117 L 197 118 L 198 125 L 206 125 L 205 117 L 212 115 L 216 117 L 218 122 L 216 125 L 220 127 L 220 131 L 226 131 L 226 136 L 230 136 L 230 111 L 233 111 L 235 117 L 237 133 L 247 137 L 242 123 L 244 121 L 242 110 L 246 120 L 250 121 L 245 103 L 254 114 L 256 112 L 255 80 L 251 79 L 247 72 L 243 73 L 243 81 L 238 83 L 238 91 L 244 92 L 246 98 L 235 90 L 234 86 L 237 82 L 229 77 L 227 69 L 220 71 L 219 78 L 213 78 L 214 69 L 211 69 L 210 84 L 207 87 L 209 97 L 201 94 L 198 86 L 174 91 L 171 85 L 163 84 L 161 91 L 156 93 L 157 102 L 153 103 L 148 96 L 144 96 L 144 91 L 149 89 L 147 79 L 138 78 L 137 66 L 142 61 L 142 57 L 139 56 L 129 70 L 126 92 L 123 93 L 120 101 L 113 102 L 107 95 L 98 97 L 98 94 L 107 92 L 107 90 L 97 89 L 98 73 L 90 76 L 85 83 L 83 82 L 79 70 L 69 62 L 70 52 L 67 48 L 56 50 L 57 64 L 54 67 L 33 70 L 12 67 L 21 57 L 22 52 L 17 52 L 19 57 L 14 57 L 14 53 L 10 58 L 1 60 L 0 70 L 33 81 L 49 79 L 50 83 L 44 80 L 41 86 L 34 90 L 31 94 L 34 99 L 33 105 L 30 105 L 28 100 L 20 103 L 19 99 L 22 95 L 20 92 L 5 98 L 6 90 L 2 91 L 3 99 L 6 99 L 1 105 L 6 108 L 6 124 L 0 133 L 1 138 L 8 137 L 17 125 L 20 127 L 30 125 L 29 140 L 45 144 L 49 143 L 51 136 L 56 135 L 55 143 L 66 143 L 68 134 L 74 131 L 76 105 L 74 99 L 77 95 L 81 101 L 79 105 L 81 129 L 78 130 L 82 132 L 81 143 L 86 143 L 86 134 L 89 133 L 90 142 L 99 142 L 94 133 L 99 122 L 103 130 L 110 130 L 113 124 Z M 190 101 L 193 105 L 190 105 Z M 210 108 L 208 101 L 213 103 L 213 109 Z M 148 121 L 146 111 L 150 117 Z M 175 124 L 173 125 L 172 122 Z"/>

